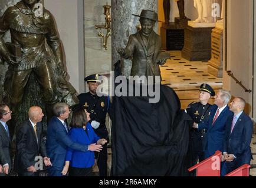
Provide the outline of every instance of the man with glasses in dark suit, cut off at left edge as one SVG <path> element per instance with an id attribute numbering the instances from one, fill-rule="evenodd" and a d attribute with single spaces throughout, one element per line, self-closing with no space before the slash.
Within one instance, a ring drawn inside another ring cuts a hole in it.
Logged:
<path id="1" fill-rule="evenodd" d="M 9 128 L 6 122 L 11 118 L 12 111 L 6 104 L 0 104 L 0 176 L 8 174 L 12 168 L 11 162 L 11 139 L 9 135 Z M 2 173 L 4 174 L 1 174 Z"/>

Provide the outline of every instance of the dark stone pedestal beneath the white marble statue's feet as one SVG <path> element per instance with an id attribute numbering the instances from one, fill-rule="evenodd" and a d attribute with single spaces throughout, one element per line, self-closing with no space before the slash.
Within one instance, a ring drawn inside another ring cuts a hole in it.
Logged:
<path id="1" fill-rule="evenodd" d="M 211 33 L 214 27 L 198 28 L 194 26 L 193 24 L 188 24 L 188 27 L 185 28 L 184 48 L 181 53 L 182 58 L 188 59 L 188 61 L 209 61 L 212 53 Z"/>

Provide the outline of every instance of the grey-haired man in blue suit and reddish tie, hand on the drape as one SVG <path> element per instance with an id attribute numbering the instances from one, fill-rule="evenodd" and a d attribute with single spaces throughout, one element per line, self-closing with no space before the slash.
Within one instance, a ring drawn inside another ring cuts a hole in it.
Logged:
<path id="1" fill-rule="evenodd" d="M 231 99 L 231 94 L 227 90 L 219 90 L 214 99 L 215 105 L 210 110 L 209 120 L 193 125 L 198 130 L 207 130 L 204 159 L 214 155 L 217 150 L 223 151 L 228 120 L 233 116 L 233 112 L 229 110 L 227 105 Z M 221 175 L 223 176 L 225 174 L 224 163 L 221 168 Z"/>

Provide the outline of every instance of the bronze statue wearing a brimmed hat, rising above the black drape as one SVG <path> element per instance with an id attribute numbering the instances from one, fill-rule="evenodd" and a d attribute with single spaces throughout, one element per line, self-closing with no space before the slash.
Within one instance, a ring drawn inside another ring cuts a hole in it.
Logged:
<path id="1" fill-rule="evenodd" d="M 140 15 L 142 29 L 129 36 L 125 49 L 119 53 L 124 59 L 132 59 L 131 76 L 160 76 L 159 65 L 163 65 L 170 54 L 161 52 L 161 39 L 153 31 L 158 15 L 154 11 L 142 10 Z"/>

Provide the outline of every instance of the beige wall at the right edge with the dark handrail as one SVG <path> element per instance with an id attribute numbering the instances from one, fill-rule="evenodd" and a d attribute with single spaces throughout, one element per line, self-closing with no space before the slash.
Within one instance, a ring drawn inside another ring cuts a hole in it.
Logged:
<path id="1" fill-rule="evenodd" d="M 256 117 L 255 102 L 253 95 L 253 68 L 254 68 L 254 23 L 253 4 L 254 1 L 228 1 L 227 10 L 227 67 L 231 70 L 235 78 L 242 82 L 252 93 L 245 92 L 235 80 L 224 71 L 224 89 L 231 90 L 233 96 L 240 96 L 246 100 L 247 112 Z M 225 63 L 224 63 L 225 64 Z M 255 81 L 254 81 L 255 82 Z M 256 119 L 255 119 L 256 121 Z"/>

